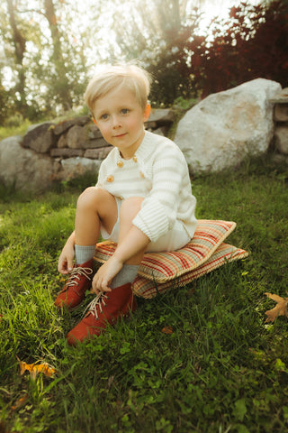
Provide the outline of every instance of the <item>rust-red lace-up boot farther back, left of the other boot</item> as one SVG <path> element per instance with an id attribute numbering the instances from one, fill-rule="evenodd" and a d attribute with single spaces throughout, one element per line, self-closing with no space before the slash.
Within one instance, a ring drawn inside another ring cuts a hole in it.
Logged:
<path id="1" fill-rule="evenodd" d="M 94 275 L 94 259 L 81 265 L 76 264 L 67 280 L 67 283 L 58 294 L 54 305 L 75 309 L 85 298 L 85 291 L 90 289 Z"/>

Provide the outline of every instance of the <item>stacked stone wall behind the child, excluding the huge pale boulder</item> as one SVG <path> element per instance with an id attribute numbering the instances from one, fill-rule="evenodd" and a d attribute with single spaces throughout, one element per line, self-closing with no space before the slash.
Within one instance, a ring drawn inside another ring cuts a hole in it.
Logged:
<path id="1" fill-rule="evenodd" d="M 166 135 L 174 120 L 172 110 L 155 109 L 145 127 Z M 23 137 L 0 142 L 0 181 L 35 192 L 49 189 L 53 181 L 81 176 L 87 170 L 94 171 L 96 181 L 100 164 L 111 149 L 89 116 L 32 125 Z"/>

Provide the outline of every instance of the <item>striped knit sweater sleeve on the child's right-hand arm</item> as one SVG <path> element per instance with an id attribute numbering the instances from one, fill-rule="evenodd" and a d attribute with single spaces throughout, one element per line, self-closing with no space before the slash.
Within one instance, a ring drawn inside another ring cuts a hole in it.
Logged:
<path id="1" fill-rule="evenodd" d="M 157 151 L 152 164 L 152 189 L 133 219 L 133 225 L 151 242 L 174 226 L 183 175 L 187 170 L 184 155 L 175 146 Z"/>

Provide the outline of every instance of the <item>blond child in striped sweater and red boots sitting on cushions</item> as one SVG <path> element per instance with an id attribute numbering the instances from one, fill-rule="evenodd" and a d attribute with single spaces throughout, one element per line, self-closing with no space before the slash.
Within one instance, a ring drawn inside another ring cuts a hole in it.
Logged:
<path id="1" fill-rule="evenodd" d="M 67 334 L 70 345 L 99 336 L 107 323 L 136 309 L 131 283 L 145 252 L 174 251 L 193 237 L 196 200 L 184 155 L 166 137 L 144 129 L 149 84 L 148 73 L 135 65 L 112 66 L 96 74 L 85 91 L 94 122 L 114 149 L 95 187 L 78 198 L 75 231 L 58 259 L 58 272 L 70 276 L 57 307 L 74 309 L 91 286 L 97 294 Z M 94 275 L 100 235 L 117 248 Z"/>

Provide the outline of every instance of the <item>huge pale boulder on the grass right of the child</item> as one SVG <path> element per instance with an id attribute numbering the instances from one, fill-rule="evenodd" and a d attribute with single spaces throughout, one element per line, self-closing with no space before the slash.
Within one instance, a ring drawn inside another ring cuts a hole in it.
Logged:
<path id="1" fill-rule="evenodd" d="M 280 91 L 279 83 L 257 78 L 193 106 L 175 134 L 191 172 L 220 171 L 266 152 L 274 134 L 269 99 Z"/>

